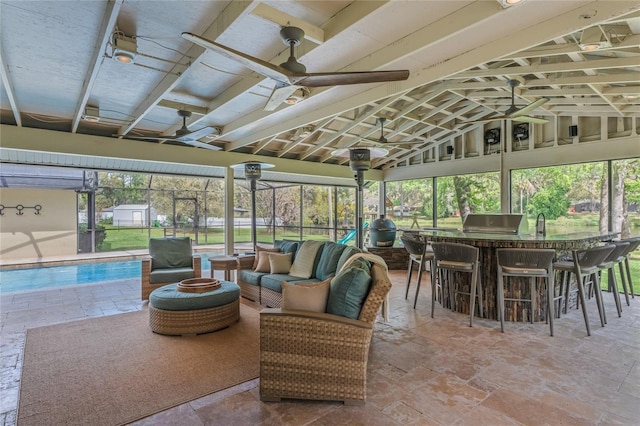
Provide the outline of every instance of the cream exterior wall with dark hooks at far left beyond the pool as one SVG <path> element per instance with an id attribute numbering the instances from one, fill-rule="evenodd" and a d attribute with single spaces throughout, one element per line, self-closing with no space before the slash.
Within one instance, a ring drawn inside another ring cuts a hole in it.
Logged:
<path id="1" fill-rule="evenodd" d="M 0 216 L 0 261 L 39 259 L 51 256 L 76 255 L 78 247 L 76 194 L 70 190 L 0 188 L 0 204 L 5 206 Z M 39 215 L 24 209 L 42 206 Z"/>

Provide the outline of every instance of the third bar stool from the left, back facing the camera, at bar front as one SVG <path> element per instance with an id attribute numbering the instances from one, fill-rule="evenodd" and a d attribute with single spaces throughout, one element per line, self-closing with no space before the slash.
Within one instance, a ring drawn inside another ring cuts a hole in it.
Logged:
<path id="1" fill-rule="evenodd" d="M 547 300 L 546 317 L 549 323 L 549 333 L 553 336 L 553 318 L 555 302 L 555 284 L 553 278 L 553 258 L 556 251 L 553 249 L 497 249 L 498 257 L 498 315 L 500 316 L 500 331 L 504 333 L 504 302 L 528 302 L 531 304 L 530 321 L 536 311 L 536 281 L 537 278 L 546 278 Z M 529 279 L 529 298 L 504 297 L 505 277 L 524 277 Z"/>

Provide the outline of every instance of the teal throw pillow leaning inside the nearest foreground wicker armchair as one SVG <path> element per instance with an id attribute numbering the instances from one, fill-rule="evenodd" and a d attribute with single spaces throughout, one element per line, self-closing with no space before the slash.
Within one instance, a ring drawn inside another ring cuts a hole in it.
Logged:
<path id="1" fill-rule="evenodd" d="M 331 280 L 327 313 L 358 319 L 371 286 L 371 265 L 356 259 Z"/>

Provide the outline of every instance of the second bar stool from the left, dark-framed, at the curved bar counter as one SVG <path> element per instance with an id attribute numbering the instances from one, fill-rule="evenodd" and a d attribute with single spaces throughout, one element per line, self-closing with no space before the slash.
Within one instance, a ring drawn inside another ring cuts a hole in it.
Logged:
<path id="1" fill-rule="evenodd" d="M 469 327 L 473 327 L 473 315 L 475 314 L 476 297 L 478 297 L 479 315 L 483 316 L 484 303 L 482 299 L 482 283 L 479 274 L 479 253 L 477 247 L 459 243 L 432 243 L 434 254 L 434 279 L 431 280 L 431 318 L 436 303 L 435 280 L 440 280 L 440 285 L 444 289 L 448 285 L 451 300 L 451 309 L 456 309 L 456 295 L 464 294 L 469 296 Z M 453 282 L 453 277 L 445 280 L 445 272 L 452 275 L 453 272 L 463 272 L 471 274 L 470 292 L 463 292 L 457 288 L 457 283 Z M 436 278 L 437 275 L 437 278 Z"/>

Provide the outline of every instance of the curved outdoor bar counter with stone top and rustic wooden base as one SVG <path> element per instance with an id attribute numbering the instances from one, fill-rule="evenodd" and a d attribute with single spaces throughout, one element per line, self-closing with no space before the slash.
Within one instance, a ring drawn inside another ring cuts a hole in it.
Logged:
<path id="1" fill-rule="evenodd" d="M 515 235 L 500 233 L 476 233 L 452 230 L 423 229 L 420 235 L 432 242 L 451 242 L 469 244 L 480 249 L 480 280 L 483 286 L 483 300 L 485 317 L 498 319 L 497 311 L 497 258 L 498 248 L 552 248 L 558 256 L 570 254 L 571 250 L 591 247 L 602 241 L 610 241 L 618 234 L 579 232 L 571 234 L 556 234 L 547 236 Z M 459 274 L 454 279 L 460 280 L 463 291 L 469 291 L 469 274 Z M 514 278 L 517 279 L 517 278 Z M 514 285 L 514 293 L 509 297 L 518 297 L 522 291 L 526 291 L 526 280 L 520 279 L 524 285 Z M 544 282 L 544 281 L 541 281 Z M 556 294 L 558 294 L 559 280 L 556 280 Z M 537 312 L 534 312 L 534 321 L 545 320 L 545 290 L 544 285 L 538 285 Z M 469 313 L 469 298 L 461 296 L 457 300 L 457 306 L 461 313 Z M 476 304 L 477 306 L 477 304 Z M 523 302 L 509 302 L 505 304 L 505 320 L 528 321 L 529 304 Z"/>

